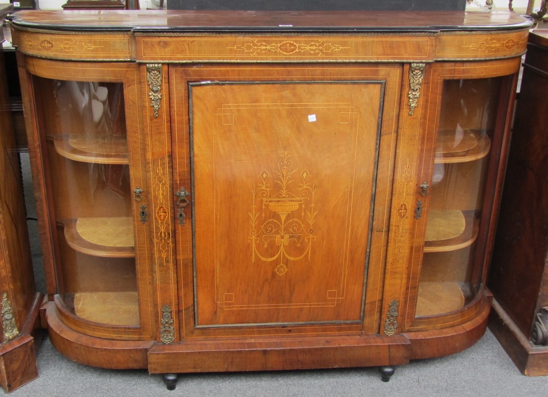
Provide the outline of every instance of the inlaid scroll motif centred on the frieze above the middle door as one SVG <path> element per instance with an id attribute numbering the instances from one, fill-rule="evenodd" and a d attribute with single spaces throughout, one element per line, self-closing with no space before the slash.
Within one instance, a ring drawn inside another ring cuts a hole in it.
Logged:
<path id="1" fill-rule="evenodd" d="M 283 42 L 270 44 L 259 40 L 250 40 L 247 43 L 237 44 L 236 46 L 229 48 L 237 51 L 243 51 L 250 55 L 264 53 L 282 53 L 284 55 L 309 53 L 315 55 L 326 55 L 350 47 L 343 47 L 339 44 L 332 44 L 324 40 L 318 40 L 317 42 L 310 43 L 297 43 L 292 40 L 286 40 Z"/>

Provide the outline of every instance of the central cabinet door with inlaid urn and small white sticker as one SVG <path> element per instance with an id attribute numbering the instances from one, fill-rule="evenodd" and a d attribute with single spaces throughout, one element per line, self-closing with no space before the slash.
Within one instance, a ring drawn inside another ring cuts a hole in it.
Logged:
<path id="1" fill-rule="evenodd" d="M 387 82 L 400 74 L 363 65 L 175 68 L 174 100 L 188 104 L 183 118 L 176 107 L 176 123 L 188 128 L 190 185 L 176 169 L 174 188 L 184 188 L 179 204 L 189 192 L 192 209 L 189 217 L 180 207 L 176 232 L 192 229 L 195 328 L 361 327 L 378 310 L 368 307 L 379 282 L 368 268 L 384 266 L 397 120 Z"/>

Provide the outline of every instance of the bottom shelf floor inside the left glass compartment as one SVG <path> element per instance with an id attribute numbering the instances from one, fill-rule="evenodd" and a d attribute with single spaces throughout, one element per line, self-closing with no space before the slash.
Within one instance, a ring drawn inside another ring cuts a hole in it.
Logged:
<path id="1" fill-rule="evenodd" d="M 137 292 L 77 292 L 74 310 L 84 320 L 110 325 L 139 325 Z"/>

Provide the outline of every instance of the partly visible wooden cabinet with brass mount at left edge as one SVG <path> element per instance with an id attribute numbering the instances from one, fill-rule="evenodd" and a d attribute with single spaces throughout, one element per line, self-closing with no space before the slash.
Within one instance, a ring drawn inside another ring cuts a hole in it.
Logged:
<path id="1" fill-rule="evenodd" d="M 0 7 L 4 20 L 12 5 Z M 0 45 L 4 41 L 0 30 Z M 6 392 L 38 376 L 33 332 L 42 294 L 36 293 L 26 208 L 15 143 L 4 54 L 0 47 L 0 384 Z"/>

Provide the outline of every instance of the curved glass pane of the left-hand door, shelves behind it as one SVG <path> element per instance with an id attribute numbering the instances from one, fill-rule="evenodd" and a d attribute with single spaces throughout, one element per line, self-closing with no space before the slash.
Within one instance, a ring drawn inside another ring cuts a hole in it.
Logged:
<path id="1" fill-rule="evenodd" d="M 123 84 L 34 79 L 58 293 L 83 319 L 139 325 Z"/>

